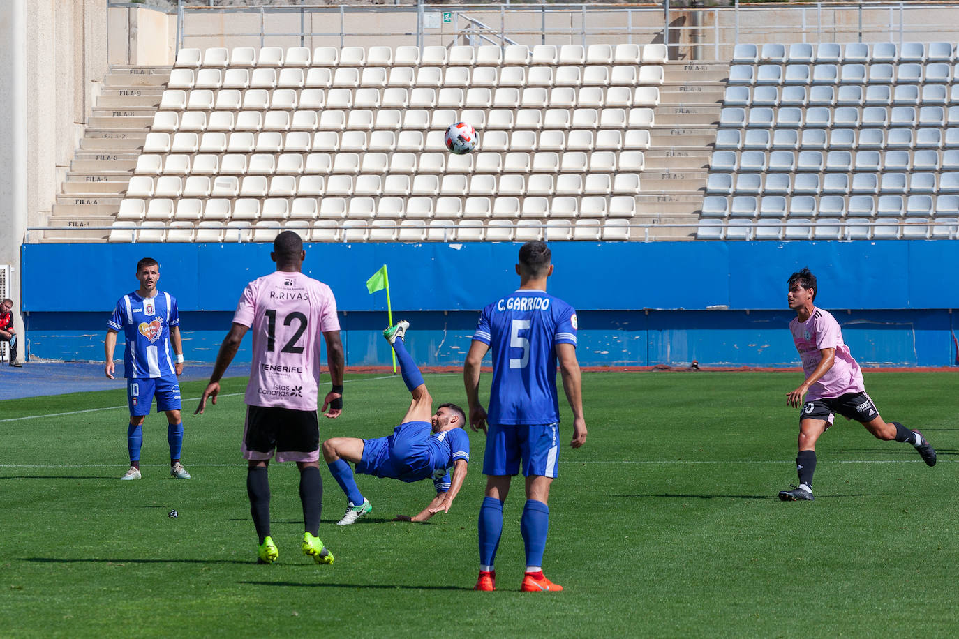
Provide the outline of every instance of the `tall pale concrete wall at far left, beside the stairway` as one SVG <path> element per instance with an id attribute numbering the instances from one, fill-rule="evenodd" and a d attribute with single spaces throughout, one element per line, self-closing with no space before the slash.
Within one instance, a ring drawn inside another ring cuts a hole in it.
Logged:
<path id="1" fill-rule="evenodd" d="M 0 263 L 13 266 L 20 317 L 20 244 L 53 210 L 106 73 L 106 0 L 0 3 Z"/>

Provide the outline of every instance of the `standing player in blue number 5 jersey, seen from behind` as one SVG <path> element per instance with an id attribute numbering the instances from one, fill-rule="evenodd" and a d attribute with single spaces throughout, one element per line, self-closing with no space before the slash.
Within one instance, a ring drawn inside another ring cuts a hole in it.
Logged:
<path id="1" fill-rule="evenodd" d="M 576 361 L 576 311 L 546 292 L 552 275 L 550 248 L 529 241 L 516 264 L 519 290 L 486 308 L 479 317 L 463 367 L 470 426 L 486 433 L 483 474 L 486 494 L 479 508 L 477 590 L 496 589 L 493 560 L 503 534 L 503 501 L 513 475 L 526 475 L 526 507 L 520 530 L 526 546 L 526 592 L 562 590 L 543 575 L 550 524 L 550 484 L 559 468 L 559 401 L 556 362 L 573 409 L 573 448 L 586 442 L 586 420 Z M 480 366 L 493 349 L 489 412 L 479 403 Z M 522 463 L 521 463 L 522 462 Z"/>

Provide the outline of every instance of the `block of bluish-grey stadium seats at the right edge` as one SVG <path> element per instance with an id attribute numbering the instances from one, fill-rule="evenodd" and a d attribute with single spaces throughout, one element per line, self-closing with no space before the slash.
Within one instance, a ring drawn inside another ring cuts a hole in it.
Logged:
<path id="1" fill-rule="evenodd" d="M 946 42 L 737 45 L 696 237 L 951 237 L 953 61 Z"/>

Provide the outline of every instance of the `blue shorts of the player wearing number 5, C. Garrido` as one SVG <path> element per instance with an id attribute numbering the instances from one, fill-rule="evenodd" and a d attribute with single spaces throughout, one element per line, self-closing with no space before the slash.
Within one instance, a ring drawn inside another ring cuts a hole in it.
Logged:
<path id="1" fill-rule="evenodd" d="M 489 424 L 482 473 L 515 475 L 521 459 L 526 477 L 555 477 L 559 472 L 559 423 Z"/>

